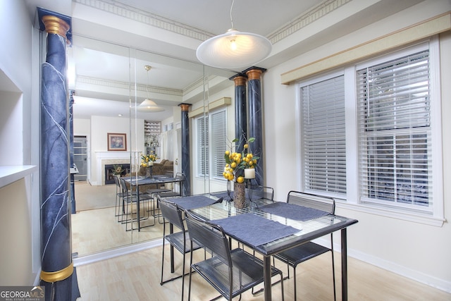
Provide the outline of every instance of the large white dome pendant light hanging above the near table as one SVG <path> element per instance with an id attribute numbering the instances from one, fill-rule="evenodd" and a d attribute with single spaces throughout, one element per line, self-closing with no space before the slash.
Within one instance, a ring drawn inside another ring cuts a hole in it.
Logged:
<path id="1" fill-rule="evenodd" d="M 233 28 L 230 6 L 230 28 L 226 33 L 207 39 L 197 47 L 196 56 L 206 66 L 238 69 L 253 66 L 271 53 L 272 44 L 266 37 Z"/>

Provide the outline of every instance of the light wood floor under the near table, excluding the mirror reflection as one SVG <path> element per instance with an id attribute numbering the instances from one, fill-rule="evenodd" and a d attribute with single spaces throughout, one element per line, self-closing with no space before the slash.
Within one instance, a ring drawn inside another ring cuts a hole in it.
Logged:
<path id="1" fill-rule="evenodd" d="M 165 255 L 168 255 L 165 252 Z M 194 253 L 203 259 L 203 252 Z M 335 254 L 337 293 L 341 300 L 340 254 Z M 175 251 L 175 274 L 181 274 L 182 255 Z M 168 256 L 165 279 L 170 278 Z M 187 255 L 189 262 L 189 255 Z M 188 264 L 187 264 L 188 266 Z M 286 273 L 286 266 L 276 262 Z M 161 247 L 107 259 L 77 267 L 81 298 L 78 300 L 180 300 L 181 278 L 160 285 Z M 390 273 L 376 266 L 348 259 L 348 300 L 451 300 L 451 294 Z M 277 278 L 273 278 L 276 281 Z M 185 300 L 189 277 L 185 277 Z M 285 300 L 293 300 L 293 280 L 284 281 Z M 273 286 L 273 300 L 281 300 L 280 284 Z M 216 290 L 199 275 L 192 276 L 191 300 L 210 300 L 218 296 Z M 333 300 L 330 253 L 323 254 L 297 267 L 298 300 Z M 223 300 L 223 299 L 222 299 Z M 238 298 L 236 298 L 238 300 Z M 263 294 L 247 292 L 242 300 L 264 300 Z"/>

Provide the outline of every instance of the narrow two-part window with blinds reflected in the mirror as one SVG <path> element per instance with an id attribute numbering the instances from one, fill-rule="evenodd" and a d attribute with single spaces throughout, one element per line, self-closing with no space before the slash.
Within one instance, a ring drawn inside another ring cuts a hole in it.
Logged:
<path id="1" fill-rule="evenodd" d="M 196 119 L 197 176 L 223 178 L 227 147 L 226 109 Z M 211 166 L 209 166 L 211 162 Z"/>

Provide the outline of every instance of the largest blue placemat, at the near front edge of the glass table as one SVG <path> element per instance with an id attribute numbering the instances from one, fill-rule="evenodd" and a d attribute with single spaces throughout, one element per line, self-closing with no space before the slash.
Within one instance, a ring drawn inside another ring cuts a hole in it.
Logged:
<path id="1" fill-rule="evenodd" d="M 211 222 L 223 227 L 229 235 L 233 235 L 254 247 L 299 232 L 299 229 L 250 213 Z"/>

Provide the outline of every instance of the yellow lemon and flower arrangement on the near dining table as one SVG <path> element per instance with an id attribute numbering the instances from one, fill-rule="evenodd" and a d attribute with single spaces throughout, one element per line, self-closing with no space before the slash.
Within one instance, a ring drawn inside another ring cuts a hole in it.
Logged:
<path id="1" fill-rule="evenodd" d="M 235 138 L 231 144 L 230 149 L 236 148 L 235 143 L 238 142 L 238 138 Z M 244 170 L 245 168 L 255 168 L 259 156 L 252 154 L 249 144 L 254 142 L 255 138 L 249 138 L 245 141 L 242 152 L 232 152 L 226 150 L 224 159 L 226 159 L 226 167 L 224 168 L 223 176 L 227 180 L 234 180 L 237 183 L 243 183 L 245 181 Z M 235 146 L 234 146 L 235 145 Z"/>

